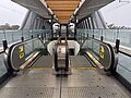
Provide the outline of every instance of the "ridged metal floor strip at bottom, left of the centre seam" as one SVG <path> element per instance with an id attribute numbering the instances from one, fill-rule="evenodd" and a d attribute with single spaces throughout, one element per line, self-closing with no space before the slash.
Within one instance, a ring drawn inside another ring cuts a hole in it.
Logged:
<path id="1" fill-rule="evenodd" d="M 4 87 L 1 98 L 52 98 L 53 87 Z"/>

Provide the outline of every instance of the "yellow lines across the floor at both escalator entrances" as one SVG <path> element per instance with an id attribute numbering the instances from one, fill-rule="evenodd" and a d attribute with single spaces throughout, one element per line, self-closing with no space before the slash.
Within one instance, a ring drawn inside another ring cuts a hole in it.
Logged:
<path id="1" fill-rule="evenodd" d="M 52 70 L 52 68 L 29 68 L 28 70 Z M 96 70 L 96 68 L 71 68 L 71 70 Z"/>

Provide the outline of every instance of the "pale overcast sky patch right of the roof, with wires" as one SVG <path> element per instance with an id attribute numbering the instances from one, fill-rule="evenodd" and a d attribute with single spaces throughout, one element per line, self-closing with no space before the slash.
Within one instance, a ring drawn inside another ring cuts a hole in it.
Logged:
<path id="1" fill-rule="evenodd" d="M 129 2 L 127 2 L 129 1 Z M 115 0 L 100 9 L 105 21 L 116 26 L 131 27 L 131 0 Z"/>

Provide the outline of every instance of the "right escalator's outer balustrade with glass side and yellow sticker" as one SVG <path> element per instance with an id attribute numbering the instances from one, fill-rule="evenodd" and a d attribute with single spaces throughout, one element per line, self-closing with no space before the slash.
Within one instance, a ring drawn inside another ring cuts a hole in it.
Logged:
<path id="1" fill-rule="evenodd" d="M 104 71 L 116 70 L 117 56 L 109 44 L 94 38 L 86 38 L 81 50 Z"/>

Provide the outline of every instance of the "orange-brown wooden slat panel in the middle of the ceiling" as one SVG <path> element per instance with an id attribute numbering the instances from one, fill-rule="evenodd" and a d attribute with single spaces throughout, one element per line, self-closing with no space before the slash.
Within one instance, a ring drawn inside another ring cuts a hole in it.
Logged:
<path id="1" fill-rule="evenodd" d="M 45 0 L 60 23 L 69 23 L 81 0 Z"/>

